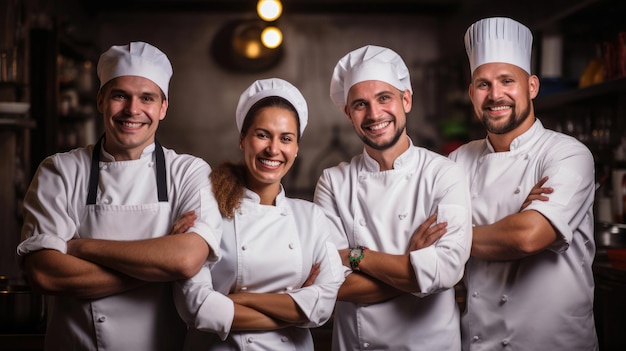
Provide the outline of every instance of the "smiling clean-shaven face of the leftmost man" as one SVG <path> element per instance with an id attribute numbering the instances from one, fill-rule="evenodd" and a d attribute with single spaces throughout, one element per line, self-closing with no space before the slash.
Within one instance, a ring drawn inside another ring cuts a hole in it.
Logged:
<path id="1" fill-rule="evenodd" d="M 105 150 L 118 161 L 138 159 L 143 149 L 154 142 L 167 106 L 161 89 L 149 79 L 122 76 L 106 83 L 98 93 Z"/>

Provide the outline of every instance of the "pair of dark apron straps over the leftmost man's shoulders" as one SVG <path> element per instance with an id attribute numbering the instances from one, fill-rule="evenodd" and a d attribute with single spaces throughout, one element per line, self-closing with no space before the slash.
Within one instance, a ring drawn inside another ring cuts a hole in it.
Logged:
<path id="1" fill-rule="evenodd" d="M 87 193 L 87 205 L 96 204 L 96 195 L 98 194 L 98 182 L 100 180 L 100 151 L 102 149 L 102 139 L 104 135 L 98 139 L 91 153 L 91 169 L 89 172 L 89 191 Z M 156 158 L 156 181 L 157 195 L 159 202 L 167 202 L 167 171 L 165 169 L 165 155 L 163 147 L 154 139 L 154 153 Z"/>

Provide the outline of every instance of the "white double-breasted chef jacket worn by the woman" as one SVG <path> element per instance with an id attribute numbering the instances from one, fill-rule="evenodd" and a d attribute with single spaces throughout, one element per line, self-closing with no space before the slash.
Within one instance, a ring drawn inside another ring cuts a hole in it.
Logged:
<path id="1" fill-rule="evenodd" d="M 190 326 L 185 348 L 312 351 L 308 328 L 330 318 L 344 281 L 322 210 L 285 197 L 282 189 L 276 206 L 261 205 L 259 196 L 245 189 L 234 219 L 224 218 L 222 228 L 220 261 L 175 284 L 176 307 Z M 321 263 L 319 276 L 302 288 L 315 263 Z M 308 321 L 273 331 L 231 332 L 234 307 L 225 295 L 234 292 L 289 294 Z"/>

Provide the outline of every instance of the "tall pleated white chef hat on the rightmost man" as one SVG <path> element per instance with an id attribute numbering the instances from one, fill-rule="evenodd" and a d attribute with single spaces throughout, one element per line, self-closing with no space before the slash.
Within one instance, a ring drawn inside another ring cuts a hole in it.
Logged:
<path id="1" fill-rule="evenodd" d="M 506 17 L 482 19 L 465 32 L 465 50 L 472 74 L 485 63 L 504 62 L 530 74 L 533 35 L 523 24 Z"/>

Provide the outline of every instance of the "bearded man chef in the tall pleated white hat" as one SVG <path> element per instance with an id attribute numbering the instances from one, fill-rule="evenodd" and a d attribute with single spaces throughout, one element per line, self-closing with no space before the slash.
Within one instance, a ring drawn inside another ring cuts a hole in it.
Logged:
<path id="1" fill-rule="evenodd" d="M 475 225 L 463 349 L 597 350 L 593 156 L 535 117 L 526 26 L 483 19 L 465 46 L 469 96 L 487 137 L 450 155 L 469 178 Z M 525 204 L 535 184 L 552 193 Z"/>

